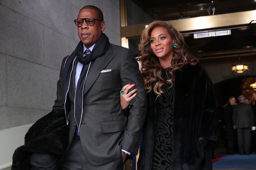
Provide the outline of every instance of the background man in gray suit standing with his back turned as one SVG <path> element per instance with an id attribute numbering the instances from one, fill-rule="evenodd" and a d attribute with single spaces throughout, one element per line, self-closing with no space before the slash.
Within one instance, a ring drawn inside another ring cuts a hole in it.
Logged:
<path id="1" fill-rule="evenodd" d="M 234 106 L 234 129 L 238 132 L 238 147 L 241 155 L 251 153 L 251 127 L 254 125 L 252 107 L 244 102 L 245 97 L 238 97 L 238 105 Z"/>

